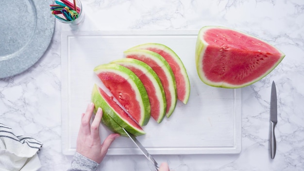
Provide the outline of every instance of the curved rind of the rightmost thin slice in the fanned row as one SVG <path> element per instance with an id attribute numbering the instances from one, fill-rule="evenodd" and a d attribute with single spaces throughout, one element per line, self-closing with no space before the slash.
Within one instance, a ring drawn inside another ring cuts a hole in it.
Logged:
<path id="1" fill-rule="evenodd" d="M 177 94 L 177 98 L 182 101 L 184 104 L 186 104 L 189 100 L 189 96 L 190 96 L 190 81 L 189 81 L 189 77 L 186 71 L 186 68 L 184 66 L 184 63 L 182 62 L 182 60 L 180 59 L 180 57 L 172 50 L 170 49 L 168 46 L 164 45 L 164 44 L 160 44 L 160 43 L 145 43 L 145 44 L 141 44 L 141 45 L 137 45 L 133 48 L 130 48 L 129 50 L 136 50 L 136 49 L 148 49 L 148 48 L 156 48 L 156 49 L 160 49 L 163 51 L 166 51 L 167 53 L 169 53 L 173 58 L 173 60 L 178 64 L 179 66 L 179 71 L 181 74 L 177 75 L 177 73 L 174 73 L 175 77 L 180 77 L 182 76 L 186 85 L 186 89 L 185 89 L 185 98 L 181 99 L 179 98 L 179 95 Z M 165 58 L 166 59 L 166 58 Z M 170 65 L 170 64 L 169 64 Z M 177 89 L 179 87 L 177 86 Z"/>

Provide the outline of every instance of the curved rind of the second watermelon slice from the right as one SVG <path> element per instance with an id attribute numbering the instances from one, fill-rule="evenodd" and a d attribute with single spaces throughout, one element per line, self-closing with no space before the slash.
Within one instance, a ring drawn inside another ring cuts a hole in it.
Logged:
<path id="1" fill-rule="evenodd" d="M 160 66 L 162 66 L 165 69 L 165 74 L 167 76 L 167 78 L 169 79 L 169 84 L 171 86 L 169 86 L 169 92 L 170 92 L 170 96 L 171 96 L 171 106 L 168 109 L 168 103 L 167 103 L 167 110 L 168 112 L 166 112 L 166 117 L 169 118 L 175 107 L 176 107 L 176 103 L 177 103 L 177 91 L 176 91 L 176 81 L 175 81 L 175 77 L 173 74 L 173 71 L 171 69 L 171 67 L 169 66 L 168 62 L 166 61 L 166 59 L 164 57 L 162 57 L 160 54 L 153 52 L 153 51 L 149 51 L 149 50 L 128 50 L 128 51 L 124 51 L 123 52 L 125 56 L 128 56 L 130 54 L 141 54 L 141 55 L 146 55 L 151 59 L 154 59 L 155 62 L 157 62 Z M 149 64 L 148 64 L 149 65 Z"/>

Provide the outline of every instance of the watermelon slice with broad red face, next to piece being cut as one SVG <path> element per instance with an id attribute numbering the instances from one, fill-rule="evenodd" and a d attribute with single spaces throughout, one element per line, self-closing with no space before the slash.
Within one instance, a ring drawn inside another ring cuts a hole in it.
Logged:
<path id="1" fill-rule="evenodd" d="M 139 125 L 148 123 L 151 116 L 149 97 L 134 72 L 117 64 L 97 66 L 94 72 Z"/>

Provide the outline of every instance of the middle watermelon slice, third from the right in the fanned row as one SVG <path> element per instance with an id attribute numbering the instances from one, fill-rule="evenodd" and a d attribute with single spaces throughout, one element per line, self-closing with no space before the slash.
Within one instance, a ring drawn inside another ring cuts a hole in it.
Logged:
<path id="1" fill-rule="evenodd" d="M 121 65 L 132 70 L 145 86 L 151 105 L 151 117 L 160 123 L 166 114 L 166 96 L 163 85 L 146 63 L 132 58 L 123 58 L 112 61 L 111 63 Z"/>

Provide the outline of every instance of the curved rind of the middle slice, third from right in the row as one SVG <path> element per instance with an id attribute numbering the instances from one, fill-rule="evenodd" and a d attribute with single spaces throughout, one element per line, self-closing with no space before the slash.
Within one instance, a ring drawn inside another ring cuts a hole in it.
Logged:
<path id="1" fill-rule="evenodd" d="M 159 117 L 156 119 L 156 122 L 160 123 L 165 117 L 167 102 L 166 102 L 166 96 L 165 96 L 165 91 L 164 91 L 163 85 L 162 85 L 159 77 L 157 76 L 157 74 L 154 72 L 154 70 L 150 66 L 148 66 L 146 63 L 139 61 L 137 59 L 132 59 L 132 58 L 121 58 L 121 59 L 114 60 L 110 63 L 122 65 L 124 67 L 132 66 L 132 67 L 138 68 L 142 72 L 144 72 L 147 77 L 150 78 L 150 81 L 152 82 L 153 87 L 155 89 L 154 93 L 157 95 L 157 97 L 158 97 L 157 101 L 159 102 L 159 111 L 160 112 L 159 112 Z"/>

